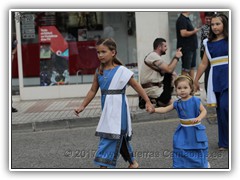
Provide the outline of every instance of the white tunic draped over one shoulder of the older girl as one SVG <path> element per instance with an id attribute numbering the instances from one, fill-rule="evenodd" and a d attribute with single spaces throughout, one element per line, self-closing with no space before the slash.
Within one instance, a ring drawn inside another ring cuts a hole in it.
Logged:
<path id="1" fill-rule="evenodd" d="M 120 66 L 113 76 L 113 79 L 109 85 L 108 90 L 122 90 L 133 76 L 133 72 L 124 66 Z M 126 95 L 126 106 L 127 106 L 127 135 L 131 137 L 131 116 L 129 112 L 129 105 Z M 108 134 L 113 139 L 120 138 L 121 134 L 121 110 L 122 108 L 122 94 L 108 94 L 105 99 L 103 111 L 98 123 L 96 134 Z"/>

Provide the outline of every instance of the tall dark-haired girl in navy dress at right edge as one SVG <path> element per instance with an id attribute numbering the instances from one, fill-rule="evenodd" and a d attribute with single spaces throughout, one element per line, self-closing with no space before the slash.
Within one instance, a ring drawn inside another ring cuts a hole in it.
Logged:
<path id="1" fill-rule="evenodd" d="M 209 62 L 211 69 L 208 78 L 207 105 L 216 107 L 218 120 L 219 150 L 229 146 L 229 100 L 228 100 L 228 17 L 215 14 L 211 19 L 209 37 L 203 41 L 205 53 L 195 77 L 195 88 L 199 89 L 199 79 Z"/>

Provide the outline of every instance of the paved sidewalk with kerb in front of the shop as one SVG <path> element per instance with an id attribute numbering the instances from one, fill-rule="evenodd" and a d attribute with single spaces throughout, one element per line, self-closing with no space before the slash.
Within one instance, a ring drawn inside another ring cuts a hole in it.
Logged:
<path id="1" fill-rule="evenodd" d="M 204 104 L 205 93 L 201 92 L 200 97 Z M 176 97 L 173 96 L 173 98 Z M 97 125 L 101 115 L 100 97 L 95 97 L 87 108 L 80 113 L 80 116 L 77 117 L 73 109 L 79 106 L 82 101 L 83 98 L 13 101 L 13 107 L 18 112 L 12 113 L 12 130 L 38 131 Z M 177 117 L 176 111 L 166 114 L 149 114 L 145 110 L 139 109 L 138 96 L 128 96 L 128 102 L 133 122 Z"/>

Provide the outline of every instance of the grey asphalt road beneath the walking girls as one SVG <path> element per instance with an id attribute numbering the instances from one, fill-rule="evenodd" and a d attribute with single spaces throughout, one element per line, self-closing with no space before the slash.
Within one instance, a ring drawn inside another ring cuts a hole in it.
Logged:
<path id="1" fill-rule="evenodd" d="M 169 169 L 172 167 L 172 136 L 176 119 L 133 123 L 132 146 L 140 168 Z M 228 169 L 229 152 L 218 151 L 217 124 L 203 122 L 209 139 L 211 168 Z M 12 132 L 12 169 L 92 169 L 98 146 L 96 126 L 38 132 Z M 117 168 L 126 168 L 122 157 Z"/>

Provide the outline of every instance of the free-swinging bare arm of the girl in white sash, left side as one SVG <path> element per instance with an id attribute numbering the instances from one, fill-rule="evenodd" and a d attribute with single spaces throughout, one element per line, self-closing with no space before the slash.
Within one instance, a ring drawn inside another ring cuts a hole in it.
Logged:
<path id="1" fill-rule="evenodd" d="M 80 112 L 82 112 L 87 105 L 92 101 L 92 99 L 95 97 L 97 91 L 99 88 L 99 84 L 97 81 L 97 74 L 95 73 L 94 75 L 94 79 L 93 79 L 93 83 L 92 83 L 92 87 L 91 89 L 88 91 L 87 96 L 85 97 L 85 99 L 83 100 L 82 104 L 78 107 L 74 109 L 75 115 L 78 116 L 78 114 Z"/>

